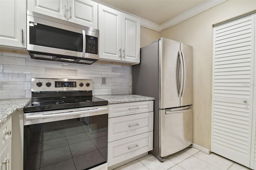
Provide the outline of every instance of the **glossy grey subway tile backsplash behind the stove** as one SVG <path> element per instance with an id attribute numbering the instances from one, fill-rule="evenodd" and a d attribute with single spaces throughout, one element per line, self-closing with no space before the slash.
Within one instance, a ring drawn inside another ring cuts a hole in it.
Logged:
<path id="1" fill-rule="evenodd" d="M 31 78 L 92 79 L 93 95 L 129 94 L 130 70 L 128 65 L 83 65 L 0 52 L 0 99 L 30 98 Z M 105 84 L 102 77 L 106 78 Z"/>

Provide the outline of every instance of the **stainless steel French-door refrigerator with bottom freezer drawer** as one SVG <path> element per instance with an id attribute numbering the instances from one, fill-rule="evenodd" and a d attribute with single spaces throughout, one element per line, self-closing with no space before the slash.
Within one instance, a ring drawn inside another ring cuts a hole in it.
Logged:
<path id="1" fill-rule="evenodd" d="M 152 154 L 160 161 L 193 140 L 192 47 L 166 38 L 140 49 L 133 94 L 155 97 Z"/>

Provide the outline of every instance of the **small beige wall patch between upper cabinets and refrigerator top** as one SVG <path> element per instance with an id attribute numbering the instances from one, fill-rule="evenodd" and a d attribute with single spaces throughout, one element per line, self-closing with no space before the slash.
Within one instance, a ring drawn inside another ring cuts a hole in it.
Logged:
<path id="1" fill-rule="evenodd" d="M 152 41 L 160 38 L 160 32 L 140 27 L 140 47 L 150 44 Z"/>

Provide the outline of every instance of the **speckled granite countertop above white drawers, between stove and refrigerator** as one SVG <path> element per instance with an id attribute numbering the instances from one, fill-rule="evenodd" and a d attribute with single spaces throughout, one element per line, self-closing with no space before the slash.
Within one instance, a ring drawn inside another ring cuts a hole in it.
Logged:
<path id="1" fill-rule="evenodd" d="M 140 95 L 95 95 L 94 97 L 107 100 L 108 104 L 150 101 L 155 99 L 154 97 Z"/>

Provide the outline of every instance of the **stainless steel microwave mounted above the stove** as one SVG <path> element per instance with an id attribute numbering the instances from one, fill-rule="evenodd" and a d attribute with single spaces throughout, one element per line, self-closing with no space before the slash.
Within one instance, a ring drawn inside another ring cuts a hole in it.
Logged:
<path id="1" fill-rule="evenodd" d="M 92 64 L 99 59 L 99 30 L 27 15 L 27 50 L 33 59 Z"/>

